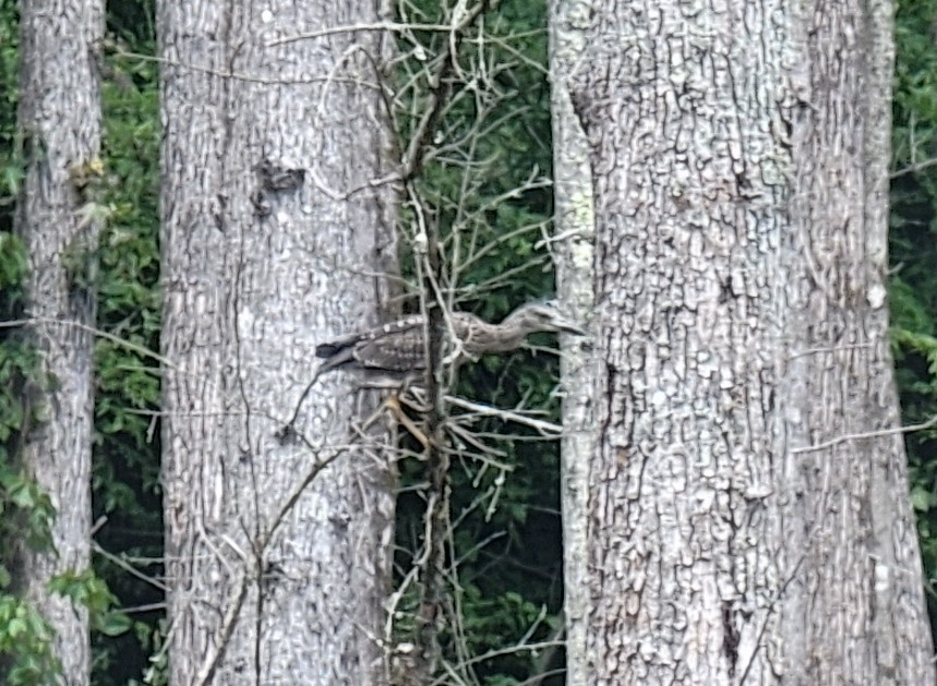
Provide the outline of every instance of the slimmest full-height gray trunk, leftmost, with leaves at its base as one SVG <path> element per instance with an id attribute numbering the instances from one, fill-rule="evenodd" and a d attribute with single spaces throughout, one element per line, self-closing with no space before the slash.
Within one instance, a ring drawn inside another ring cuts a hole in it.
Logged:
<path id="1" fill-rule="evenodd" d="M 100 85 L 96 63 L 104 3 L 58 0 L 20 5 L 20 130 L 26 177 L 16 217 L 29 253 L 31 335 L 50 380 L 47 421 L 25 436 L 22 460 L 57 510 L 53 552 L 23 551 L 20 583 L 56 630 L 64 683 L 87 684 L 87 612 L 49 593 L 55 575 L 91 563 L 94 255 L 97 226 L 82 209 L 98 168 Z"/>

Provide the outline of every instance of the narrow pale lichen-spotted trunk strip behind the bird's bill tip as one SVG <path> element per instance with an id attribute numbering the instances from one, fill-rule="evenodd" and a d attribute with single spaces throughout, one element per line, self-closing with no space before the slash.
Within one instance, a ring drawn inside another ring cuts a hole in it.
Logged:
<path id="1" fill-rule="evenodd" d="M 577 322 L 590 322 L 594 312 L 594 212 L 589 145 L 573 111 L 565 76 L 576 70 L 586 48 L 588 2 L 554 2 L 550 8 L 551 111 L 553 119 L 553 198 L 556 290 L 564 310 Z M 566 682 L 587 684 L 586 622 L 589 594 L 586 583 L 588 547 L 588 467 L 594 454 L 594 365 L 591 341 L 561 338 L 563 380 L 563 438 L 561 498 L 563 508 L 563 566 L 566 623 Z"/>

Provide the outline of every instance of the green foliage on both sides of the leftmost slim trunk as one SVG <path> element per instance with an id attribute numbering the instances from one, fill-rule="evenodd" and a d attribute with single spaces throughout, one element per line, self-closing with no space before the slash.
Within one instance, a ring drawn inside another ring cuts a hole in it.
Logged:
<path id="1" fill-rule="evenodd" d="M 140 52 L 154 51 L 153 3 L 111 7 L 109 24 Z M 12 217 L 23 179 L 15 133 L 17 97 L 16 3 L 0 0 L 0 317 L 22 316 L 27 260 L 12 233 Z M 105 132 L 101 160 L 73 169 L 72 182 L 84 205 L 82 216 L 104 224 L 100 244 L 76 243 L 65 251 L 72 286 L 97 290 L 99 326 L 134 346 L 96 344 L 95 518 L 107 517 L 99 543 L 117 554 L 161 557 L 161 509 L 157 489 L 158 435 L 152 413 L 158 408 L 157 366 L 145 354 L 158 341 L 157 231 L 158 116 L 156 65 L 111 61 L 103 84 Z M 91 265 L 99 265 L 99 273 Z M 41 420 L 43 382 L 35 378 L 35 353 L 16 329 L 0 329 L 0 539 L 44 549 L 50 543 L 53 510 L 48 496 L 15 464 L 22 434 Z M 4 683 L 52 683 L 57 662 L 49 652 L 49 627 L 35 609 L 12 592 L 10 559 L 0 553 L 0 660 Z M 159 613 L 131 622 L 118 604 L 158 606 L 161 594 L 128 575 L 117 557 L 98 557 L 91 570 L 59 576 L 55 591 L 89 611 L 94 683 L 127 684 L 140 677 L 159 645 Z M 158 565 L 143 566 L 152 574 Z M 115 589 L 111 592 L 110 589 Z M 133 631 L 128 631 L 132 628 Z M 120 660 L 113 657 L 120 654 Z M 155 676 L 152 683 L 158 683 Z"/>

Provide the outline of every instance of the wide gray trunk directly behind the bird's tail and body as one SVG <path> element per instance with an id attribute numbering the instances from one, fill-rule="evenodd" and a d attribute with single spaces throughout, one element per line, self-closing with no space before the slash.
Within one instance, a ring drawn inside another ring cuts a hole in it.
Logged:
<path id="1" fill-rule="evenodd" d="M 158 7 L 173 684 L 385 681 L 391 467 L 368 437 L 339 453 L 373 399 L 329 374 L 297 424 L 319 449 L 275 433 L 315 344 L 376 324 L 385 301 L 389 44 L 338 31 L 268 45 L 380 19 L 363 0 Z"/>

